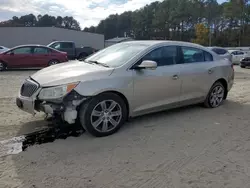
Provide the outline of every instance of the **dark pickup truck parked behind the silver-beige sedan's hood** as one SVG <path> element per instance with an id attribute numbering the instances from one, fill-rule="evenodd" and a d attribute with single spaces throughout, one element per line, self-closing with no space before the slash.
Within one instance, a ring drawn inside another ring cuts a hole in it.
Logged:
<path id="1" fill-rule="evenodd" d="M 92 47 L 76 47 L 76 44 L 72 41 L 54 41 L 48 44 L 48 47 L 67 52 L 68 58 L 74 59 L 85 59 L 87 56 L 98 51 Z"/>

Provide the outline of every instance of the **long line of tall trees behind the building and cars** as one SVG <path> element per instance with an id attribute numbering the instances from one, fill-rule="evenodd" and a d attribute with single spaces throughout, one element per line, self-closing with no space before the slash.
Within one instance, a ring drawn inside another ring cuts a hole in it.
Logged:
<path id="1" fill-rule="evenodd" d="M 33 14 L 0 22 L 0 26 L 55 26 L 81 30 L 73 17 Z M 113 14 L 83 31 L 104 34 L 105 39 L 181 40 L 202 45 L 250 46 L 250 2 L 228 0 L 164 0 L 136 11 Z"/>

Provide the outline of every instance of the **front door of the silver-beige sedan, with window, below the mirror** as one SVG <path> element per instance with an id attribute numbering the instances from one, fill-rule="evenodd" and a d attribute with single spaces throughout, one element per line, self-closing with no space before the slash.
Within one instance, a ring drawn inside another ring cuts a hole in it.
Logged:
<path id="1" fill-rule="evenodd" d="M 171 108 L 179 102 L 181 81 L 180 65 L 176 46 L 163 46 L 145 55 L 143 60 L 157 63 L 155 70 L 133 70 L 133 114 Z"/>

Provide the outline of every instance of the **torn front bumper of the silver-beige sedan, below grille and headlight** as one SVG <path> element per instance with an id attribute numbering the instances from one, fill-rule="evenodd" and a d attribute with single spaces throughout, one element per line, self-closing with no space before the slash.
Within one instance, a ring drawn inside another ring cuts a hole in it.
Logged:
<path id="1" fill-rule="evenodd" d="M 44 112 L 51 115 L 60 115 L 69 124 L 75 123 L 78 107 L 87 99 L 72 90 L 60 99 L 42 101 L 37 98 L 39 90 L 31 97 L 24 97 L 19 94 L 16 98 L 16 105 L 23 111 L 35 115 L 36 112 Z"/>

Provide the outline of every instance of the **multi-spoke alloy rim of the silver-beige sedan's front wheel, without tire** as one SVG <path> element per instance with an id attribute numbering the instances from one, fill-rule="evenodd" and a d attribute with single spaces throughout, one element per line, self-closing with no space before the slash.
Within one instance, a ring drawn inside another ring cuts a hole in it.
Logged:
<path id="1" fill-rule="evenodd" d="M 114 100 L 99 102 L 91 113 L 91 124 L 98 132 L 109 132 L 115 129 L 122 119 L 122 108 Z"/>

